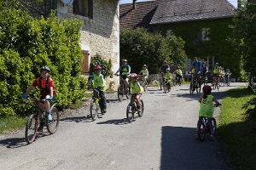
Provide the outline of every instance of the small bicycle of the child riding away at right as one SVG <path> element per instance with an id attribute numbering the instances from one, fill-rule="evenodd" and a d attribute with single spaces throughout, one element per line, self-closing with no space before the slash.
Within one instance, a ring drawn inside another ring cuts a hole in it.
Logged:
<path id="1" fill-rule="evenodd" d="M 213 105 L 213 107 L 218 107 L 218 105 Z M 216 119 L 214 117 L 212 117 L 212 127 L 213 127 L 213 134 L 216 132 Z M 203 117 L 203 122 L 201 122 L 200 127 L 198 127 L 198 131 L 197 131 L 197 135 L 198 135 L 198 139 L 200 141 L 203 141 L 206 138 L 206 134 L 210 133 L 211 134 L 211 129 L 209 127 L 209 125 L 207 125 L 207 117 L 204 116 Z"/>

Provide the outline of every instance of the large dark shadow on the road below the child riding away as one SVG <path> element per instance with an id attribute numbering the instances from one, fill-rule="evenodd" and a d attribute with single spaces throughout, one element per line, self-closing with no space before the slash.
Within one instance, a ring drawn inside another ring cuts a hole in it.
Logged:
<path id="1" fill-rule="evenodd" d="M 207 134 L 200 142 L 194 137 L 195 128 L 166 126 L 161 130 L 161 170 L 232 169 L 224 158 L 218 137 L 212 141 Z"/>

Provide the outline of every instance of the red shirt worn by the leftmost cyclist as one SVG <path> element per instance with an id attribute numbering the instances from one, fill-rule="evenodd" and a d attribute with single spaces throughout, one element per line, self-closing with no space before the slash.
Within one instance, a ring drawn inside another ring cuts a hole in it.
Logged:
<path id="1" fill-rule="evenodd" d="M 41 87 L 39 86 L 39 80 L 40 80 L 40 77 L 38 77 L 33 83 L 32 83 L 32 86 L 33 87 L 38 87 L 41 89 L 41 95 L 42 96 L 47 96 L 49 94 L 49 87 L 53 87 L 53 94 L 56 94 L 56 91 L 55 91 L 55 84 L 53 82 L 53 80 L 50 78 L 50 77 L 47 77 L 48 79 L 48 88 L 45 89 L 45 83 L 46 83 L 46 79 L 44 78 L 41 78 Z"/>

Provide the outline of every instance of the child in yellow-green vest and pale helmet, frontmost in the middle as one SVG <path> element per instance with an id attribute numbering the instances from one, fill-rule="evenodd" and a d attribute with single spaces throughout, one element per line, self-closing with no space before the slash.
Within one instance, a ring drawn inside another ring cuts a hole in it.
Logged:
<path id="1" fill-rule="evenodd" d="M 135 99 L 138 111 L 142 111 L 139 99 L 143 94 L 143 88 L 141 87 L 140 83 L 137 82 L 137 77 L 138 76 L 136 73 L 131 73 L 131 101 Z"/>

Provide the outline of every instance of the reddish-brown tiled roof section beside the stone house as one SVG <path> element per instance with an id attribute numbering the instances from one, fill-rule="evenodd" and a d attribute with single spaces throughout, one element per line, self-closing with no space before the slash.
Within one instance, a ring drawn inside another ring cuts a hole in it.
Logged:
<path id="1" fill-rule="evenodd" d="M 137 8 L 133 8 L 133 3 L 121 4 L 119 6 L 120 29 L 144 27 L 150 30 L 150 21 L 158 6 L 157 1 L 146 1 L 137 3 Z"/>

